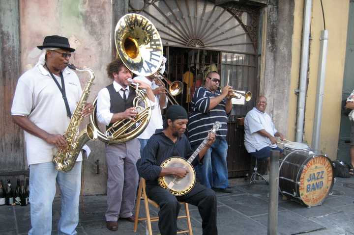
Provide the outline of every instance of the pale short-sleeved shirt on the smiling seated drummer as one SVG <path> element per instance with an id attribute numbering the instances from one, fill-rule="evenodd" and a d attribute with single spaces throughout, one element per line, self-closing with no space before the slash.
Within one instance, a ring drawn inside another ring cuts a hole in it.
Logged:
<path id="1" fill-rule="evenodd" d="M 263 149 L 264 147 L 277 147 L 276 144 L 272 144 L 269 138 L 257 133 L 262 129 L 266 130 L 269 134 L 274 136 L 277 130 L 270 116 L 266 112 L 259 111 L 256 107 L 251 109 L 244 119 L 244 145 L 248 153 L 256 152 L 256 150 Z"/>

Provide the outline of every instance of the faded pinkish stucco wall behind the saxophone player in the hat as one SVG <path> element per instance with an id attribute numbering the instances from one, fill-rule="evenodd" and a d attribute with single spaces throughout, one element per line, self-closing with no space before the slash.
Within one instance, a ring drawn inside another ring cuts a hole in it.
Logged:
<path id="1" fill-rule="evenodd" d="M 58 34 L 69 38 L 76 49 L 70 62 L 77 67 L 91 68 L 95 75 L 89 102 L 98 91 L 109 84 L 105 69 L 112 58 L 112 5 L 111 1 L 36 0 L 20 1 L 20 41 L 22 72 L 32 67 L 41 53 L 36 48 L 46 35 Z M 77 72 L 84 87 L 89 76 Z M 87 121 L 87 120 L 85 120 Z M 55 122 L 55 120 L 53 120 Z M 88 142 L 92 152 L 84 161 L 84 194 L 106 192 L 107 170 L 104 144 Z M 100 162 L 96 174 L 95 161 Z"/>

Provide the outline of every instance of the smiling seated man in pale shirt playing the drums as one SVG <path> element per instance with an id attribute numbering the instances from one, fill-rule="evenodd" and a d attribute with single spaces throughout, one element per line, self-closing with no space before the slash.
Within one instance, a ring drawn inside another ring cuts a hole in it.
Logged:
<path id="1" fill-rule="evenodd" d="M 266 110 L 266 97 L 260 96 L 256 102 L 256 107 L 250 110 L 244 119 L 244 145 L 247 152 L 258 160 L 268 159 L 271 150 L 283 150 L 277 147 L 277 139 L 279 136 L 281 140 L 285 136 L 277 131 L 274 127 L 270 116 L 265 112 Z"/>

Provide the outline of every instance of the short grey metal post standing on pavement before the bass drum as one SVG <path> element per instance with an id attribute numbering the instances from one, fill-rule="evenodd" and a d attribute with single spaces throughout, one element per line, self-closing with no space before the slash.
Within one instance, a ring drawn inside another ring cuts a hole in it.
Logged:
<path id="1" fill-rule="evenodd" d="M 270 151 L 268 235 L 278 233 L 279 155 L 278 150 Z"/>

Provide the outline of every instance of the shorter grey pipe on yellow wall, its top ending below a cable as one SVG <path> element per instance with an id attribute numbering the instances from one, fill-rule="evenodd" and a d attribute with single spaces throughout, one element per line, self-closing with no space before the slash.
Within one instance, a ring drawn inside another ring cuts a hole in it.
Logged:
<path id="1" fill-rule="evenodd" d="M 317 74 L 317 96 L 315 105 L 315 118 L 312 131 L 312 149 L 317 153 L 320 151 L 320 134 L 322 119 L 322 103 L 324 97 L 325 65 L 327 59 L 328 30 L 321 32 L 321 48 L 319 57 L 319 68 Z"/>

